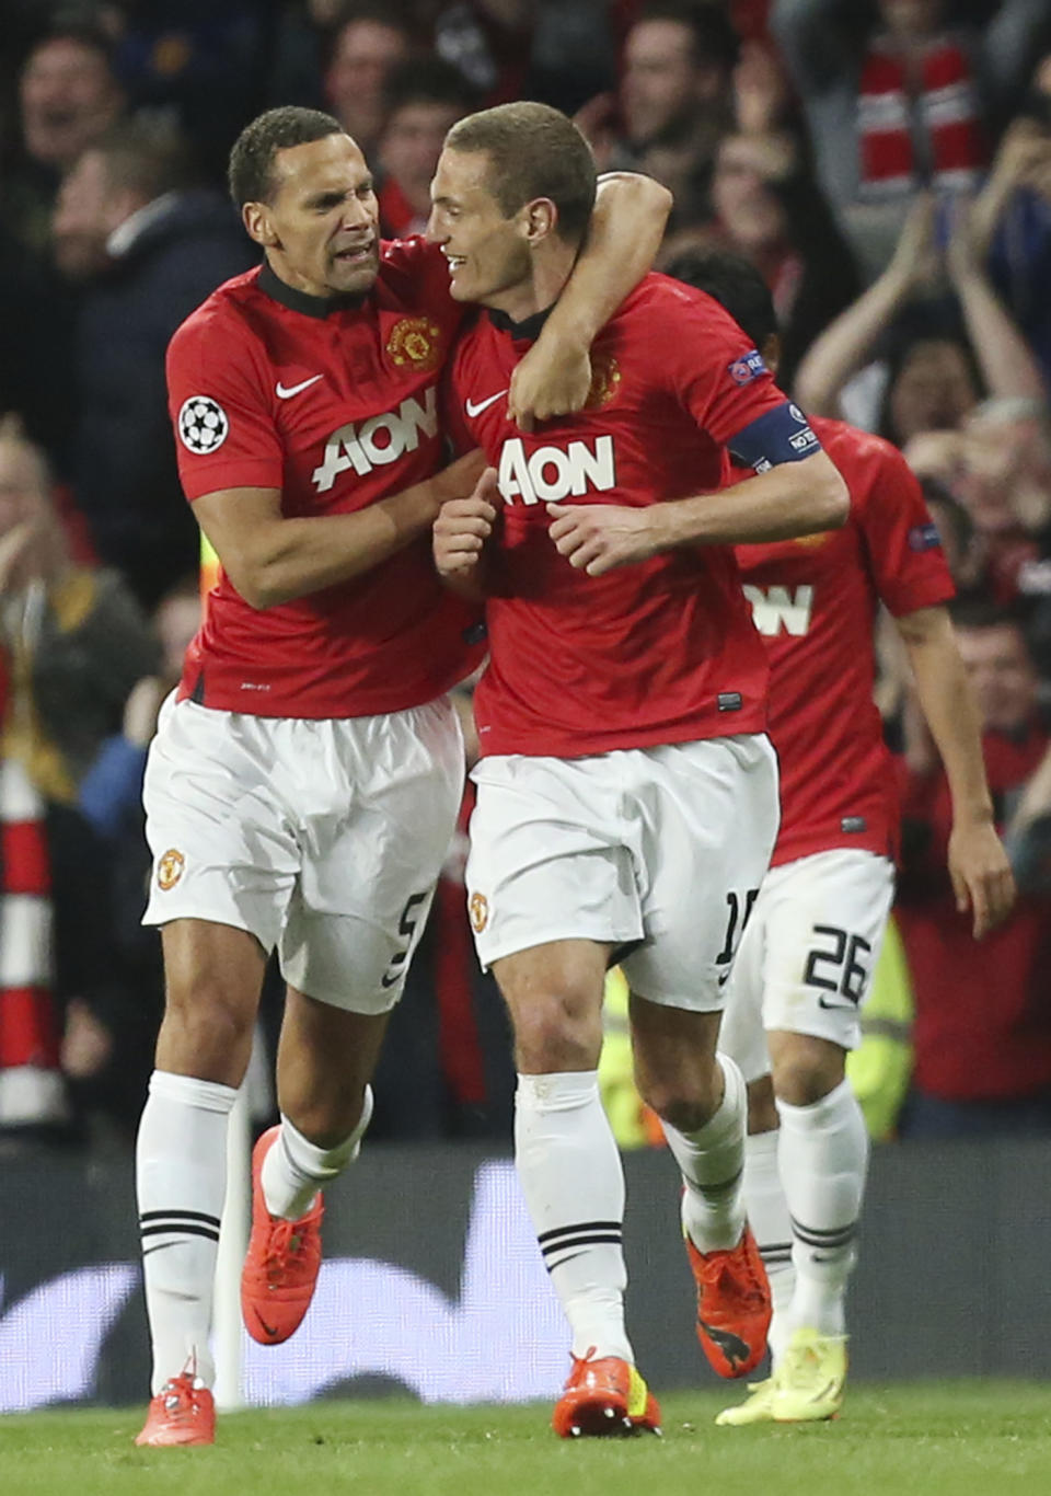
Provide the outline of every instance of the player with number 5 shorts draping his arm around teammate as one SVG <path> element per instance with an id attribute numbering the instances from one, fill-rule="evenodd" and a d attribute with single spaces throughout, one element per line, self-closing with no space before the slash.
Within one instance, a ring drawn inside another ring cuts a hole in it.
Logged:
<path id="1" fill-rule="evenodd" d="M 265 263 L 209 296 L 167 359 L 182 482 L 221 576 L 145 785 L 145 919 L 163 926 L 167 999 L 138 1140 L 144 1444 L 214 1438 L 226 1125 L 274 947 L 283 1121 L 256 1147 L 241 1297 L 268 1343 L 306 1312 L 320 1189 L 357 1153 L 454 829 L 463 752 L 446 693 L 480 655 L 477 610 L 431 560 L 438 506 L 481 470 L 468 456 L 440 471 L 438 381 L 460 323 L 446 260 L 422 239 L 380 242 L 365 159 L 329 115 L 262 115 L 230 186 Z M 664 188 L 629 180 L 614 197 L 523 370 L 526 420 L 585 398 L 592 331 L 656 248 Z"/>

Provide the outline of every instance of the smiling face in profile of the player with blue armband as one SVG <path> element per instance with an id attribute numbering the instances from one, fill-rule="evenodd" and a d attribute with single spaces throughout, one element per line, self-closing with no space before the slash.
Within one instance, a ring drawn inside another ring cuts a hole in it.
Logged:
<path id="1" fill-rule="evenodd" d="M 489 172 L 484 151 L 446 147 L 431 184 L 428 238 L 449 260 L 454 301 L 477 301 L 513 316 L 532 277 L 531 203 L 505 218 L 489 190 Z"/>

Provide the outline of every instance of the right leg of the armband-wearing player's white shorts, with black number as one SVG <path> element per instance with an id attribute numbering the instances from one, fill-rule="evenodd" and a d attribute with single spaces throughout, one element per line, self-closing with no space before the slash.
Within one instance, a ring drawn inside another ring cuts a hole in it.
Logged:
<path id="1" fill-rule="evenodd" d="M 622 962 L 631 990 L 716 1011 L 777 835 L 777 761 L 762 735 L 652 751 L 638 863 L 643 945 Z"/>

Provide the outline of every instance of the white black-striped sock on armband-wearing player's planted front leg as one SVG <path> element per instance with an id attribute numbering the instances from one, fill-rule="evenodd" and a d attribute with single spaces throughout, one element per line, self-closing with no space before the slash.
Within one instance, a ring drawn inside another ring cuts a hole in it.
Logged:
<path id="1" fill-rule="evenodd" d="M 514 1162 L 573 1354 L 634 1363 L 623 1325 L 623 1170 L 594 1070 L 519 1076 Z"/>

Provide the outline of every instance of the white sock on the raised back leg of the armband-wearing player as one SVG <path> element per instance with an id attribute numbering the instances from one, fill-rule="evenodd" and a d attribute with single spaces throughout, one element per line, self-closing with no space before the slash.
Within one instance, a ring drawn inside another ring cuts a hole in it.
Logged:
<path id="1" fill-rule="evenodd" d="M 682 1224 L 698 1252 L 721 1252 L 737 1246 L 745 1230 L 742 1170 L 745 1167 L 745 1122 L 748 1094 L 745 1077 L 728 1055 L 716 1055 L 722 1067 L 722 1101 L 697 1132 L 680 1132 L 661 1122 L 668 1147 L 682 1170 Z"/>

